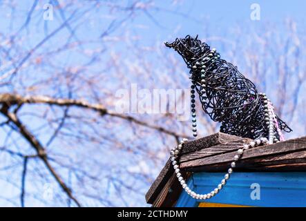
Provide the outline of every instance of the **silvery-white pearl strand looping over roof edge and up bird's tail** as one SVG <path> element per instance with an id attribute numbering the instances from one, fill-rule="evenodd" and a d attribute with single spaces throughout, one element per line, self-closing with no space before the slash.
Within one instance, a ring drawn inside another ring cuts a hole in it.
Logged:
<path id="1" fill-rule="evenodd" d="M 262 97 L 265 97 L 265 94 L 263 93 L 260 93 L 260 95 Z M 180 144 L 171 150 L 171 162 L 173 164 L 173 169 L 175 170 L 176 176 L 178 177 L 178 181 L 182 185 L 182 188 L 184 189 L 184 191 L 187 192 L 187 194 L 191 195 L 192 198 L 200 199 L 200 200 L 207 200 L 209 198 L 212 198 L 217 193 L 219 193 L 219 191 L 223 188 L 223 186 L 225 186 L 225 184 L 227 184 L 227 180 L 229 180 L 231 173 L 233 173 L 233 168 L 236 167 L 236 161 L 240 159 L 240 157 L 243 154 L 243 151 L 249 148 L 252 148 L 254 146 L 259 146 L 260 144 L 263 144 L 263 145 L 273 144 L 274 142 L 274 121 L 273 119 L 274 119 L 275 114 L 274 114 L 274 108 L 271 102 L 269 101 L 269 99 L 267 99 L 267 102 L 265 102 L 265 112 L 268 113 L 269 115 L 268 117 L 269 118 L 269 124 L 268 124 L 269 139 L 267 139 L 266 137 L 261 137 L 260 139 L 249 142 L 249 144 L 244 144 L 243 148 L 238 149 L 237 154 L 233 157 L 233 162 L 231 162 L 231 166 L 227 170 L 227 173 L 224 175 L 224 179 L 222 179 L 220 184 L 218 184 L 217 188 L 213 189 L 213 191 L 211 191 L 210 193 L 207 193 L 207 194 L 195 193 L 189 188 L 186 181 L 182 177 L 182 174 L 180 173 L 180 169 L 179 169 L 177 160 L 178 160 L 178 155 L 180 154 L 180 151 L 182 151 L 183 144 L 188 141 L 187 138 L 182 139 Z"/>

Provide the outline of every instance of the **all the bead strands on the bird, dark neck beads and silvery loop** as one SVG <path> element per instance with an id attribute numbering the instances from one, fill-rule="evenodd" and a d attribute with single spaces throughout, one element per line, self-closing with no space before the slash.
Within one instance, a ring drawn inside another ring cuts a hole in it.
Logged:
<path id="1" fill-rule="evenodd" d="M 214 53 L 216 52 L 216 49 L 213 48 L 211 50 L 211 54 L 209 54 L 209 57 L 213 57 Z M 213 59 L 218 59 L 220 58 L 220 55 L 216 53 L 216 57 L 213 57 Z M 193 68 L 197 68 L 197 66 L 202 66 L 202 68 L 205 68 L 204 63 L 199 63 L 197 62 Z M 205 80 L 204 80 L 204 70 L 201 71 L 201 90 L 200 90 L 200 95 L 201 99 L 205 99 Z M 224 178 L 221 180 L 220 184 L 216 187 L 216 189 L 213 189 L 210 193 L 205 193 L 205 194 L 199 194 L 195 193 L 192 191 L 189 186 L 187 185 L 186 181 L 182 177 L 182 174 L 180 173 L 180 168 L 178 165 L 178 156 L 180 155 L 180 152 L 182 151 L 182 147 L 185 142 L 187 142 L 187 138 L 184 138 L 180 141 L 180 144 L 173 148 L 171 150 L 171 162 L 173 164 L 173 169 L 175 170 L 176 176 L 178 177 L 178 181 L 182 185 L 182 188 L 184 191 L 187 192 L 187 194 L 191 195 L 192 198 L 195 199 L 200 199 L 200 200 L 207 200 L 209 198 L 212 198 L 214 195 L 219 193 L 219 191 L 227 184 L 227 180 L 229 180 L 231 173 L 233 173 L 233 169 L 236 167 L 236 162 L 240 160 L 240 158 L 243 155 L 243 152 L 249 148 L 253 148 L 256 146 L 266 145 L 266 144 L 273 144 L 274 142 L 279 142 L 278 139 L 274 136 L 274 132 L 278 133 L 279 137 L 281 140 L 283 140 L 283 134 L 280 132 L 280 128 L 278 127 L 278 122 L 276 119 L 276 115 L 274 113 L 274 107 L 269 99 L 267 99 L 267 96 L 265 93 L 259 93 L 263 100 L 263 104 L 265 105 L 264 107 L 264 112 L 265 112 L 265 123 L 267 124 L 267 127 L 269 129 L 269 136 L 268 138 L 266 137 L 260 137 L 259 139 L 256 139 L 254 141 L 249 142 L 248 144 L 244 144 L 243 148 L 238 149 L 237 154 L 233 157 L 233 162 L 231 162 L 229 169 L 227 170 L 227 173 L 224 175 Z M 197 137 L 197 124 L 196 124 L 196 114 L 195 114 L 195 82 L 191 85 L 191 115 L 192 115 L 192 126 L 193 126 L 193 136 Z"/>

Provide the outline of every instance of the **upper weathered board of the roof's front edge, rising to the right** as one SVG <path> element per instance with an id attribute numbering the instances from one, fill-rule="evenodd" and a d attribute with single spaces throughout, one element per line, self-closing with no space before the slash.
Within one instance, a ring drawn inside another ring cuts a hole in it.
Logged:
<path id="1" fill-rule="evenodd" d="M 238 162 L 238 165 L 240 164 L 247 164 L 247 160 L 251 160 L 251 164 L 257 164 L 259 165 L 260 162 L 277 162 L 277 156 L 278 157 L 285 157 L 285 159 L 294 160 L 296 162 L 296 155 L 287 155 L 288 153 L 293 153 L 297 151 L 303 151 L 306 149 L 306 137 L 300 137 L 294 140 L 287 140 L 285 142 L 279 142 L 276 144 L 266 145 L 266 146 L 258 146 L 256 148 L 251 148 L 245 153 L 243 153 L 241 160 Z M 196 154 L 196 153 L 195 153 Z M 195 160 L 189 160 L 188 162 L 182 162 L 180 164 L 181 169 L 188 169 L 192 170 L 196 167 L 201 167 L 201 169 L 207 169 L 207 166 L 213 166 L 213 167 L 222 167 L 224 164 L 229 165 L 231 161 L 233 161 L 233 156 L 236 155 L 236 151 L 232 151 L 230 153 L 224 153 L 220 155 L 213 155 L 209 157 L 202 157 L 200 159 Z M 273 156 L 269 160 L 268 156 Z M 284 156 L 287 155 L 287 156 Z M 286 158 L 287 157 L 287 158 Z M 291 158 L 290 158 L 291 157 Z M 254 160 L 256 158 L 256 160 Z M 285 160 L 283 159 L 283 160 Z M 302 159 L 305 159 L 305 157 L 302 157 Z M 281 159 L 280 159 L 281 160 Z M 300 161 L 298 161 L 300 162 Z M 204 167 L 205 166 L 205 167 Z"/>

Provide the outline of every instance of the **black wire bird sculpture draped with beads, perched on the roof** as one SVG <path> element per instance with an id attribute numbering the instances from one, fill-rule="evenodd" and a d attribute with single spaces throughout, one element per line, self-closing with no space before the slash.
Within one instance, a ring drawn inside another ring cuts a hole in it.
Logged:
<path id="1" fill-rule="evenodd" d="M 292 131 L 274 114 L 273 106 L 265 93 L 258 93 L 256 86 L 236 66 L 220 59 L 216 49 L 211 50 L 198 36 L 192 38 L 187 35 L 183 39 L 165 44 L 177 51 L 190 69 L 195 137 L 195 90 L 204 112 L 213 121 L 221 122 L 220 132 L 251 139 L 272 135 L 271 142 L 278 142 L 283 140 L 281 131 Z M 272 122 L 272 126 L 269 126 Z"/>

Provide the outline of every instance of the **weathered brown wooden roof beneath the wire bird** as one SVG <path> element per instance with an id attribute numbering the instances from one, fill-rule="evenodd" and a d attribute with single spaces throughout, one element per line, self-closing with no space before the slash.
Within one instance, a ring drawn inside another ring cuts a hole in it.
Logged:
<path id="1" fill-rule="evenodd" d="M 215 133 L 184 144 L 180 169 L 184 177 L 192 172 L 225 172 L 238 148 L 248 138 Z M 244 151 L 235 171 L 306 171 L 306 137 Z M 173 206 L 182 191 L 170 159 L 146 193 L 153 206 Z"/>

